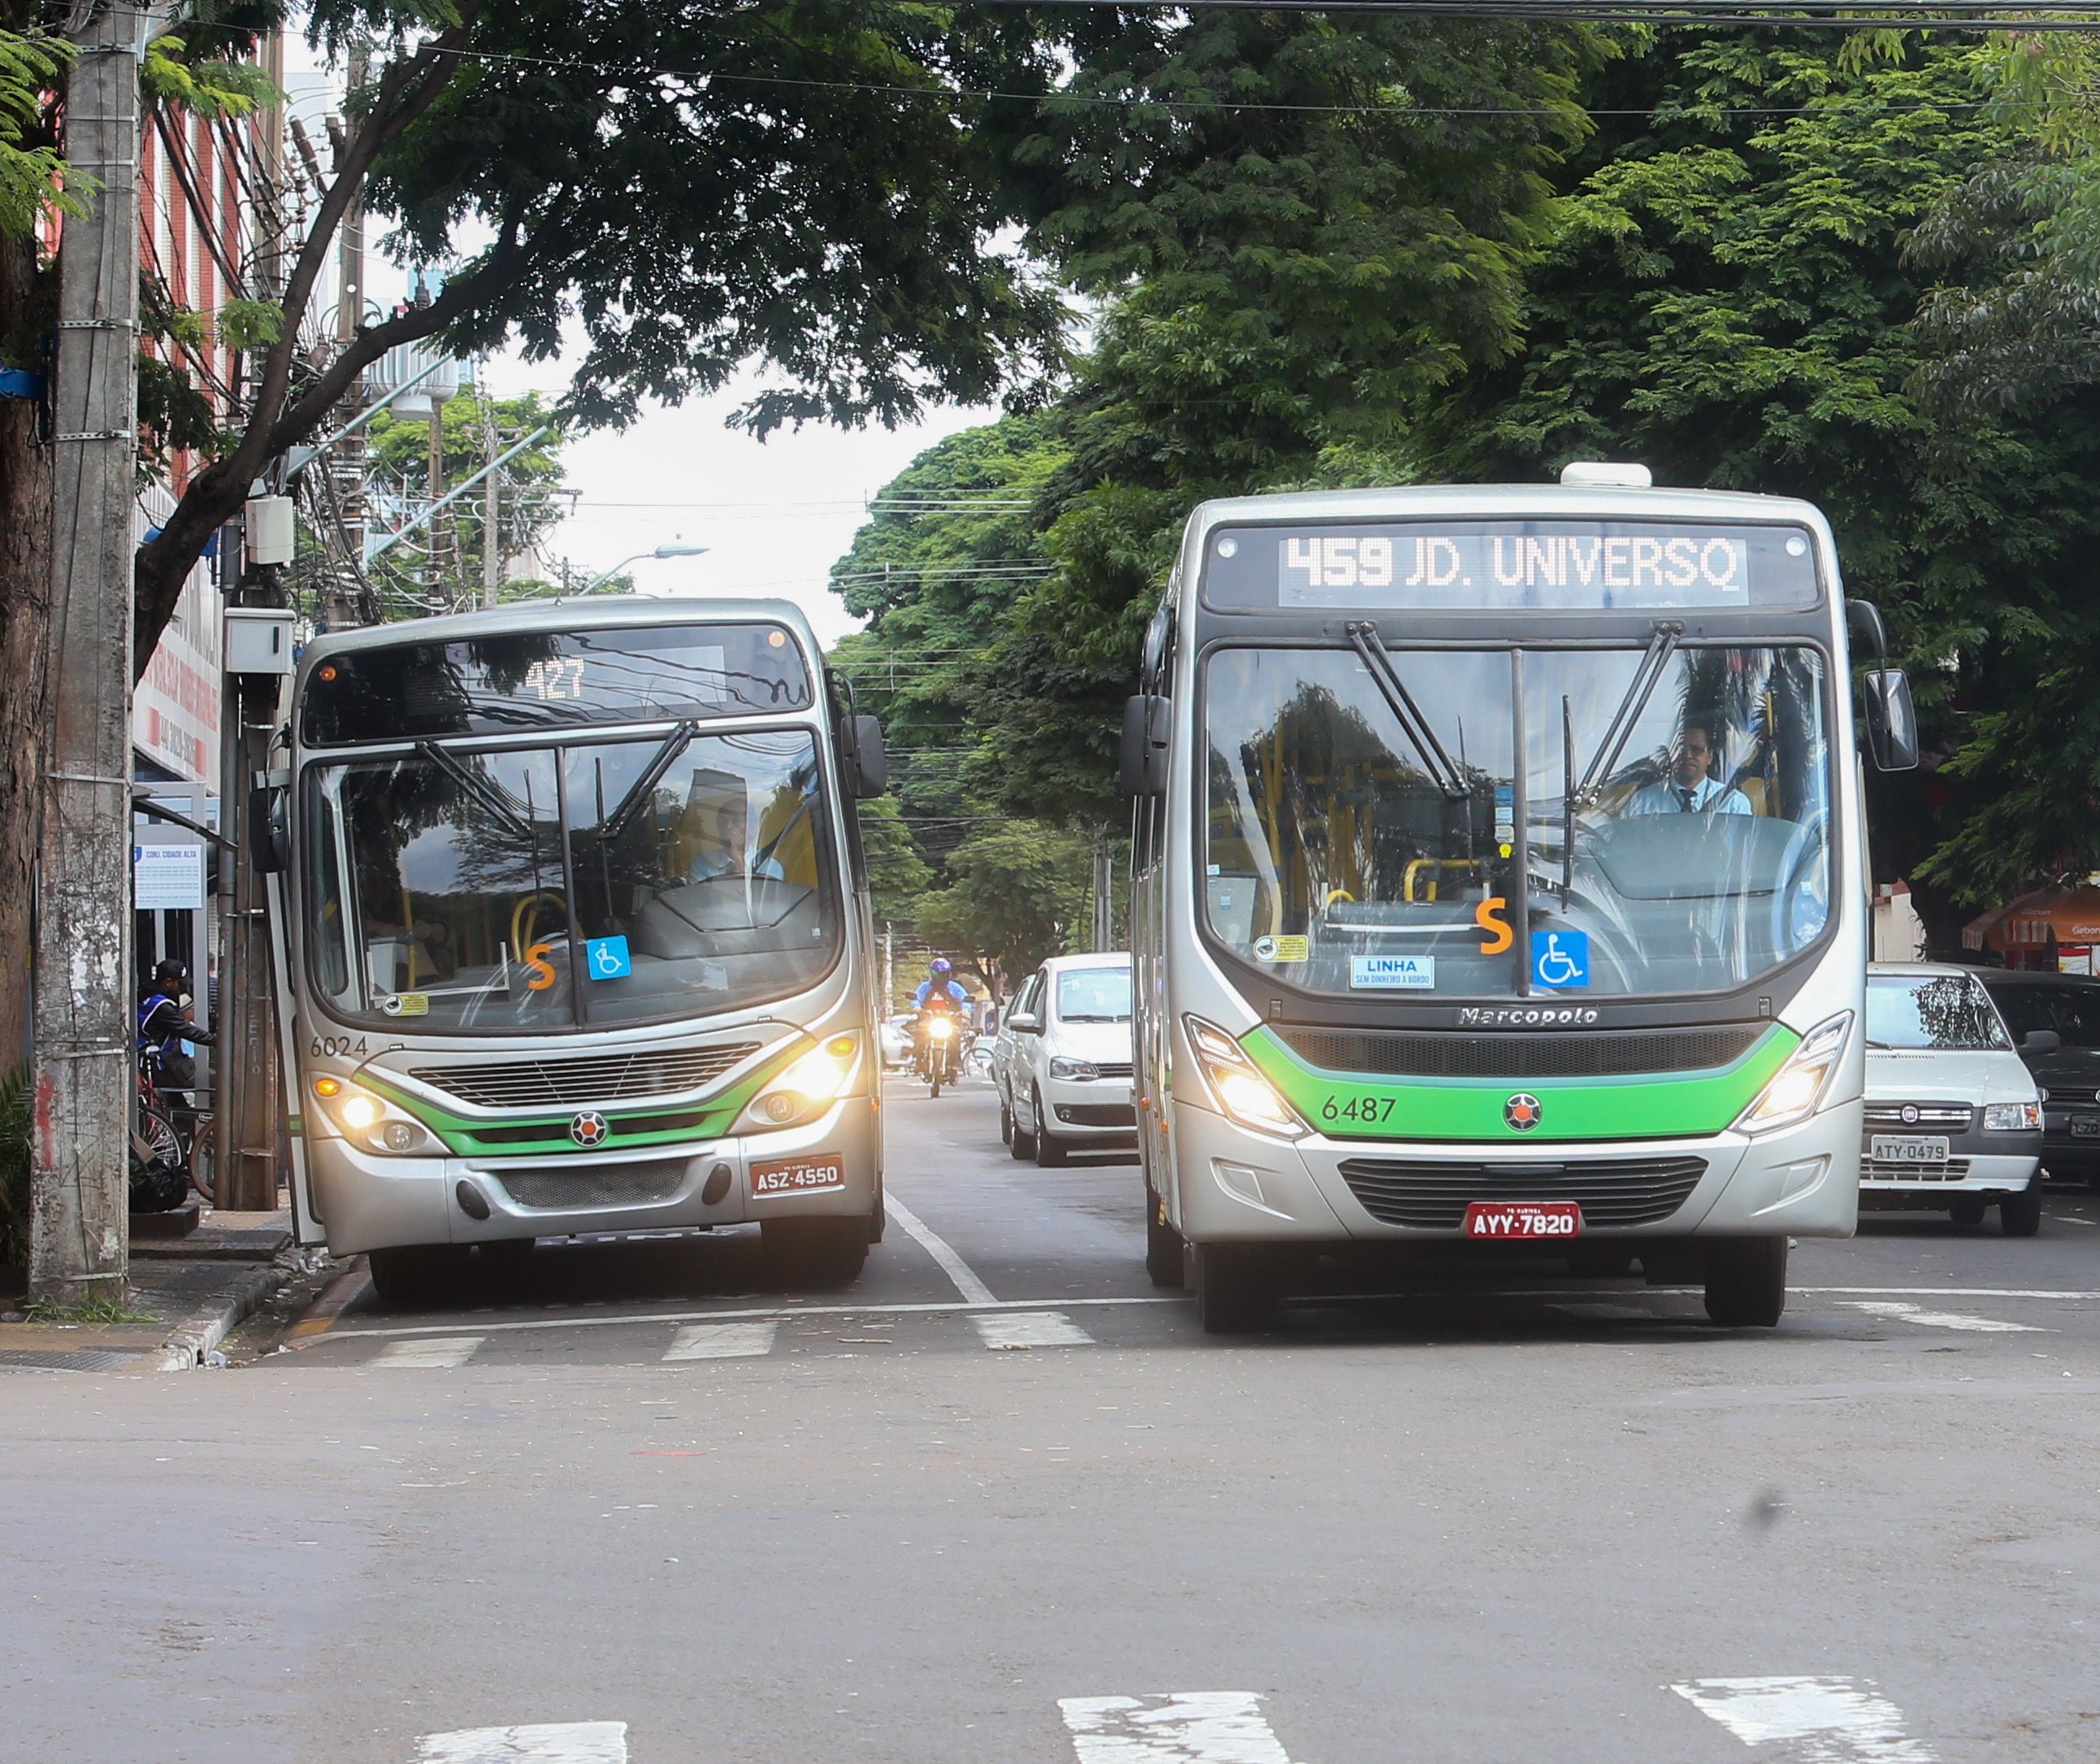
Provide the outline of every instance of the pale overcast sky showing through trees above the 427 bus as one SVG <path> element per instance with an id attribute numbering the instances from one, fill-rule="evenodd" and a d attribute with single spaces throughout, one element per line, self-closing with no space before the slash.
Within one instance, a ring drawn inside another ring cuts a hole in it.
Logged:
<path id="1" fill-rule="evenodd" d="M 286 38 L 286 90 L 326 158 L 323 118 L 340 86 L 296 34 Z M 384 307 L 405 292 L 407 275 L 384 260 L 380 233 L 372 229 L 365 250 L 365 298 Z M 317 309 L 332 309 L 332 279 L 317 290 Z M 525 391 L 559 399 L 575 359 L 527 363 L 512 353 L 487 363 L 487 384 L 504 399 Z M 636 592 L 779 594 L 808 613 L 830 647 L 859 624 L 825 580 L 867 519 L 867 500 L 934 441 L 998 412 L 945 407 L 909 428 L 813 424 L 754 441 L 724 426 L 748 393 L 748 384 L 729 386 L 680 407 L 653 405 L 617 435 L 571 441 L 563 468 L 580 491 L 575 514 L 548 536 L 546 550 L 588 580 L 666 542 L 708 546 L 706 556 L 634 563 Z"/>

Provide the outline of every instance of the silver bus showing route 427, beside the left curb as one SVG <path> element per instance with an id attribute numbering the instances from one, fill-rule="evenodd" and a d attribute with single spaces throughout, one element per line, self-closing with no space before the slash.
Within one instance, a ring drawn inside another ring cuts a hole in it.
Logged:
<path id="1" fill-rule="evenodd" d="M 256 825 L 302 1241 L 441 1298 L 533 1239 L 882 1231 L 855 798 L 882 737 L 777 601 L 588 598 L 332 632 Z"/>

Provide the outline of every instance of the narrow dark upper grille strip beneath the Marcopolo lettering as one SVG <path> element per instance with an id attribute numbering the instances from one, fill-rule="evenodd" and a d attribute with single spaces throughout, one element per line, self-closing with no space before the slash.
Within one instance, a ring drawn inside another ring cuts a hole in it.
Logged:
<path id="1" fill-rule="evenodd" d="M 1420 1033 L 1399 1029 L 1300 1029 L 1270 1025 L 1323 1071 L 1384 1077 L 1625 1077 L 1735 1065 L 1770 1027 L 1588 1029 L 1569 1035 Z"/>

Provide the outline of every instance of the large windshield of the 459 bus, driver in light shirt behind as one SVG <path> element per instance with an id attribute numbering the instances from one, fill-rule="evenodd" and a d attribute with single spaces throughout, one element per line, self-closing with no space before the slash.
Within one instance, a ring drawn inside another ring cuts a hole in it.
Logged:
<path id="1" fill-rule="evenodd" d="M 1596 998 L 1739 987 L 1821 937 L 1821 651 L 1394 649 L 1432 743 L 1371 659 L 1208 662 L 1205 911 L 1233 953 L 1359 998 Z"/>

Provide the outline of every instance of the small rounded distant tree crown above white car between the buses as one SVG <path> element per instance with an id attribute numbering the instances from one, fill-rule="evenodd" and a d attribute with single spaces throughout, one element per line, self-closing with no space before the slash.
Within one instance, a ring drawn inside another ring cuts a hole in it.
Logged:
<path id="1" fill-rule="evenodd" d="M 1090 840 L 1042 823 L 983 827 L 949 853 L 953 880 L 920 901 L 918 932 L 1016 979 L 1084 932 L 1092 861 Z"/>

